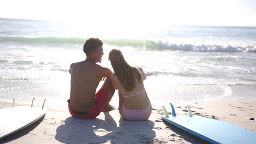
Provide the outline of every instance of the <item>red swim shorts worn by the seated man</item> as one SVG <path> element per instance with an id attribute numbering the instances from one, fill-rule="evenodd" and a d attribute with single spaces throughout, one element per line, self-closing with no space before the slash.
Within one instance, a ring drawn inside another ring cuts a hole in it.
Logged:
<path id="1" fill-rule="evenodd" d="M 94 105 L 92 105 L 91 110 L 89 113 L 86 113 L 85 115 L 79 115 L 77 113 L 74 113 L 70 106 L 70 99 L 68 99 L 68 110 L 69 113 L 76 118 L 96 118 L 101 113 L 102 106 L 105 105 L 106 100 L 108 98 L 108 91 L 105 88 L 101 88 L 98 90 L 98 92 L 95 94 L 95 102 Z"/>

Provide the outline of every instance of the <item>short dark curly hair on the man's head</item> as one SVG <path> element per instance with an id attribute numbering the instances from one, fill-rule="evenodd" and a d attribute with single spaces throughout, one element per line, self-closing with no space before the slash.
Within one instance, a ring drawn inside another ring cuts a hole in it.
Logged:
<path id="1" fill-rule="evenodd" d="M 103 43 L 98 38 L 90 38 L 84 43 L 84 53 L 89 56 L 91 52 L 96 52 L 98 46 L 102 46 Z"/>

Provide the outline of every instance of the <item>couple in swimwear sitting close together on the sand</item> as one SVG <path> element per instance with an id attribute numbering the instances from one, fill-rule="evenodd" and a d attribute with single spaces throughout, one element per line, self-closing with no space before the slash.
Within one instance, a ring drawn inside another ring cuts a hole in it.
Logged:
<path id="1" fill-rule="evenodd" d="M 151 114 L 150 104 L 143 81 L 146 74 L 142 68 L 129 65 L 120 50 L 109 52 L 108 59 L 114 73 L 108 68 L 96 63 L 101 62 L 104 54 L 102 41 L 90 38 L 84 44 L 86 59 L 83 62 L 72 63 L 69 69 L 71 74 L 71 92 L 68 100 L 68 109 L 73 117 L 96 118 L 100 112 L 114 110 L 109 101 L 115 89 L 119 93 L 119 113 L 125 120 L 144 121 Z M 104 80 L 106 78 L 106 80 Z M 96 93 L 100 81 L 103 86 Z"/>

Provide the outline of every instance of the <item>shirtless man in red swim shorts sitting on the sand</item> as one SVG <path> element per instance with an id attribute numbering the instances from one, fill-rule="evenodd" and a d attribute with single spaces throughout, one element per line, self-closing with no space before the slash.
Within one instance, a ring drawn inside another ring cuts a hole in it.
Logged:
<path id="1" fill-rule="evenodd" d="M 95 118 L 100 115 L 101 111 L 114 110 L 114 107 L 109 105 L 115 92 L 110 80 L 112 71 L 96 64 L 101 62 L 104 54 L 102 45 L 102 41 L 98 38 L 86 40 L 84 44 L 85 61 L 70 65 L 71 92 L 68 109 L 73 117 Z M 105 77 L 107 78 L 103 86 L 96 93 L 98 83 Z"/>

